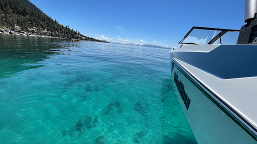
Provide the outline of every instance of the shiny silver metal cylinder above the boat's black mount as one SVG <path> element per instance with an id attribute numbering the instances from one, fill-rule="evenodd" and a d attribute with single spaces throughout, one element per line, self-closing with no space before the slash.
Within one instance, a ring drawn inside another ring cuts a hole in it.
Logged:
<path id="1" fill-rule="evenodd" d="M 244 22 L 254 20 L 257 13 L 257 0 L 245 0 L 244 2 Z"/>

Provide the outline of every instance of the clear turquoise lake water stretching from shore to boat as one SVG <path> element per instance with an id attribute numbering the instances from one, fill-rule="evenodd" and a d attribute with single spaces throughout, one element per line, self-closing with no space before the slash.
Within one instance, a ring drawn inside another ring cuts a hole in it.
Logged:
<path id="1" fill-rule="evenodd" d="M 0 34 L 3 143 L 195 143 L 169 49 Z"/>

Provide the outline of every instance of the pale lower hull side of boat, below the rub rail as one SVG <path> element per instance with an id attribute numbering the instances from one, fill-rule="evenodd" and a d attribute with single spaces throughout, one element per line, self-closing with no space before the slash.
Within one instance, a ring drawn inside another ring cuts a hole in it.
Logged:
<path id="1" fill-rule="evenodd" d="M 235 120 L 229 112 L 222 108 L 213 97 L 202 89 L 185 69 L 170 55 L 172 67 L 172 78 L 175 73 L 184 90 L 190 98 L 189 105 L 182 98 L 181 88 L 173 85 L 198 143 L 257 143 L 257 141 L 246 131 L 240 123 Z M 187 107 L 188 106 L 188 107 Z M 187 109 L 188 108 L 188 109 Z"/>

